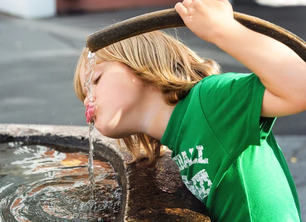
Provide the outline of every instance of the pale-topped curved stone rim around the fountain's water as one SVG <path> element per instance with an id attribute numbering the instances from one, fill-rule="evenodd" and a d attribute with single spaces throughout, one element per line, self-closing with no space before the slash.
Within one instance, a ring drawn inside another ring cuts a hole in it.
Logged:
<path id="1" fill-rule="evenodd" d="M 118 173 L 118 184 L 122 189 L 119 221 L 124 221 L 128 195 L 126 187 L 129 180 L 125 177 L 126 160 L 130 155 L 116 146 L 114 139 L 107 138 L 94 130 L 94 154 L 109 161 Z M 0 124 L 0 143 L 23 142 L 25 145 L 49 145 L 60 149 L 73 149 L 81 152 L 89 151 L 88 127 Z M 123 173 L 119 173 L 119 171 Z"/>

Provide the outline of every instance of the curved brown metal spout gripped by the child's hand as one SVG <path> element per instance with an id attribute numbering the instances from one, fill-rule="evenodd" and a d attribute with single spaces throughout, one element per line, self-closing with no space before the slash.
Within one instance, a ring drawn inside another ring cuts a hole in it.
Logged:
<path id="1" fill-rule="evenodd" d="M 306 42 L 296 35 L 257 17 L 234 12 L 234 18 L 243 26 L 288 45 L 306 62 Z M 175 9 L 152 12 L 118 22 L 89 35 L 87 46 L 94 53 L 103 47 L 136 35 L 183 26 L 185 23 Z"/>

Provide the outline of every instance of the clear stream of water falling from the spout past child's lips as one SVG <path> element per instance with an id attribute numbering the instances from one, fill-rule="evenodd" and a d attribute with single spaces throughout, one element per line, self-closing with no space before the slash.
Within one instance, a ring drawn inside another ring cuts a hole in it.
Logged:
<path id="1" fill-rule="evenodd" d="M 87 91 L 88 100 L 92 102 L 92 91 L 91 91 L 91 77 L 96 65 L 97 57 L 95 53 L 91 53 L 89 49 L 86 49 L 87 56 L 85 60 L 85 80 L 84 86 Z M 87 122 L 89 127 L 89 157 L 88 157 L 88 173 L 91 182 L 90 186 L 90 200 L 93 201 L 93 187 L 94 187 L 94 174 L 93 174 L 93 129 L 94 129 L 94 118 Z"/>

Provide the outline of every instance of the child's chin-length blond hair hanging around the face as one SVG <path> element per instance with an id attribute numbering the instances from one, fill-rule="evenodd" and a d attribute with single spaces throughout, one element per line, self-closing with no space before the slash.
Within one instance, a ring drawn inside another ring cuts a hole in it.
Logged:
<path id="1" fill-rule="evenodd" d="M 220 66 L 211 59 L 201 58 L 186 45 L 171 35 L 154 31 L 122 40 L 96 52 L 97 63 L 119 61 L 123 63 L 145 84 L 157 87 L 164 94 L 168 105 L 182 100 L 190 89 L 203 78 L 220 73 Z M 81 53 L 75 70 L 73 86 L 80 100 L 85 100 L 80 80 L 80 68 L 86 57 Z M 135 134 L 118 140 L 132 154 L 133 160 L 144 157 L 148 164 L 154 165 L 163 155 L 164 147 L 160 141 L 145 135 Z"/>

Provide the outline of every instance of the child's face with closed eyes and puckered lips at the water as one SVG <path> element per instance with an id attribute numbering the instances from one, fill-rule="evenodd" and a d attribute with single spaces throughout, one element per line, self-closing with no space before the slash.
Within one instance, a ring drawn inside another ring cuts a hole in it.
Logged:
<path id="1" fill-rule="evenodd" d="M 80 78 L 84 87 L 84 61 Z M 95 128 L 111 138 L 123 138 L 137 132 L 137 115 L 143 100 L 144 84 L 120 62 L 103 61 L 95 66 L 91 78 L 96 105 Z M 84 105 L 89 103 L 86 97 Z"/>

